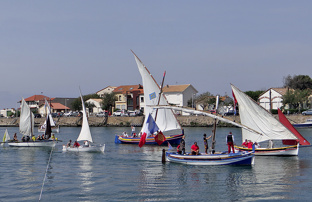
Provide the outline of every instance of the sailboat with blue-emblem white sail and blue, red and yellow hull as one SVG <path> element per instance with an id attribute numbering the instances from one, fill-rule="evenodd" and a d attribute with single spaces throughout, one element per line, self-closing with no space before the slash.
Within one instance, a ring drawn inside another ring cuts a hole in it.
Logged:
<path id="1" fill-rule="evenodd" d="M 155 109 L 148 107 L 148 105 L 156 105 L 156 104 L 167 105 L 168 101 L 166 97 L 164 96 L 164 94 L 162 93 L 162 87 L 159 87 L 159 85 L 156 83 L 151 73 L 149 73 L 149 70 L 145 67 L 145 65 L 141 62 L 141 60 L 135 54 L 134 54 L 134 57 L 137 62 L 139 72 L 142 76 L 142 81 L 143 81 L 144 101 L 146 104 L 145 114 L 152 115 L 157 126 L 162 132 L 175 130 L 175 129 L 182 129 L 175 114 L 173 113 L 173 110 L 171 109 L 155 110 Z M 165 76 L 165 73 L 163 75 L 163 78 L 164 76 Z M 144 128 L 144 125 L 146 124 L 147 119 L 148 119 L 148 116 L 145 116 L 142 129 Z M 164 141 L 162 144 L 167 144 L 167 142 L 169 142 L 170 144 L 180 144 L 180 141 L 183 135 L 184 135 L 183 130 L 182 130 L 182 134 L 167 135 L 167 136 L 165 135 L 166 141 Z M 122 137 L 121 135 L 117 135 L 117 134 L 115 136 L 116 144 L 121 144 L 121 143 L 139 144 L 139 142 L 140 142 L 140 138 Z M 154 137 L 148 137 L 146 139 L 145 144 L 158 144 L 158 143 L 155 141 Z"/>

